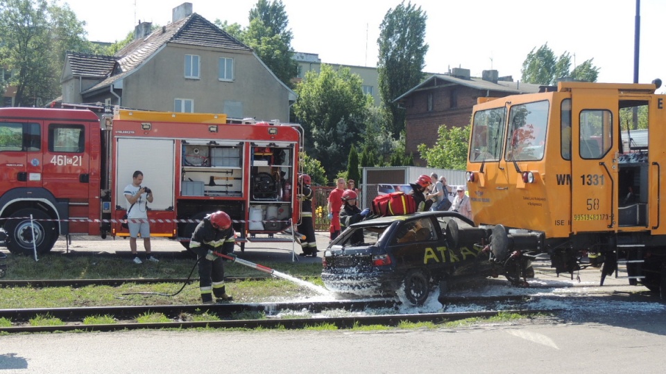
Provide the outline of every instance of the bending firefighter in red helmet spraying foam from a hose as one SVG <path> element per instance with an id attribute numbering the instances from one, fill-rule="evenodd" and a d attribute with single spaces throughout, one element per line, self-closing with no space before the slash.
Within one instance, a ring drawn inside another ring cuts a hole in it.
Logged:
<path id="1" fill-rule="evenodd" d="M 192 233 L 189 249 L 198 257 L 199 288 L 204 304 L 212 304 L 213 295 L 217 302 L 233 300 L 225 290 L 224 262 L 213 252 L 234 256 L 234 242 L 231 218 L 223 211 L 204 217 Z"/>

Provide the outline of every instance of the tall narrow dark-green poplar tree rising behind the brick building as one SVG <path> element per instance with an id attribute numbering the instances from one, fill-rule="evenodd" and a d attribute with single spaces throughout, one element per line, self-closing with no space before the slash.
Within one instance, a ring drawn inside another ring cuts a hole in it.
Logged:
<path id="1" fill-rule="evenodd" d="M 404 1 L 395 9 L 389 9 L 379 26 L 379 96 L 387 110 L 387 122 L 393 138 L 398 139 L 404 129 L 404 109 L 395 98 L 415 87 L 422 80 L 425 66 L 425 21 L 427 15 L 421 7 Z"/>

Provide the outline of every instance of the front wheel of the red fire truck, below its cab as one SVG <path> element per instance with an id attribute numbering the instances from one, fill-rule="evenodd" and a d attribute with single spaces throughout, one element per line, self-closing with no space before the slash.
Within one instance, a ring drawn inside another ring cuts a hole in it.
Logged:
<path id="1" fill-rule="evenodd" d="M 8 235 L 7 248 L 13 254 L 33 254 L 33 225 L 30 215 L 33 215 L 37 254 L 51 251 L 58 239 L 56 222 L 48 221 L 51 217 L 37 209 L 21 209 L 12 214 L 4 225 Z"/>

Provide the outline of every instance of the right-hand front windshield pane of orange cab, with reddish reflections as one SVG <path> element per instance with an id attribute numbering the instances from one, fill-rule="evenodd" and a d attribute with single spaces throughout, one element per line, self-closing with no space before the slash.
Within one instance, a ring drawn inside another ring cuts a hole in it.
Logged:
<path id="1" fill-rule="evenodd" d="M 533 161 L 543 159 L 548 124 L 548 101 L 513 105 L 509 114 L 506 159 Z"/>

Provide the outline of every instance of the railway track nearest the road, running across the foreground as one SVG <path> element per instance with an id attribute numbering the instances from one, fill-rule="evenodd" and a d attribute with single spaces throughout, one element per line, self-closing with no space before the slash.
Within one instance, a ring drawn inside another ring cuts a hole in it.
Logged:
<path id="1" fill-rule="evenodd" d="M 34 308 L 22 310 L 0 310 L 0 318 L 10 319 L 12 326 L 0 327 L 0 332 L 56 332 L 56 331 L 117 331 L 137 329 L 164 329 L 164 328 L 288 328 L 298 329 L 307 326 L 332 325 L 338 328 L 352 328 L 355 326 L 382 325 L 397 326 L 404 321 L 445 323 L 468 318 L 494 317 L 500 313 L 513 313 L 531 315 L 539 313 L 555 313 L 558 310 L 485 310 L 475 312 L 438 312 L 413 314 L 379 314 L 354 315 L 343 317 L 311 317 L 311 318 L 276 318 L 275 313 L 284 310 L 295 310 L 311 313 L 325 310 L 348 310 L 361 312 L 370 308 L 393 308 L 398 303 L 395 299 L 377 299 L 366 301 L 334 301 L 312 303 L 250 303 L 250 304 L 215 304 L 215 305 L 164 305 L 151 307 L 96 307 L 96 308 Z M 146 312 L 162 313 L 172 319 L 169 322 L 138 323 L 135 318 Z M 219 318 L 232 318 L 234 314 L 247 312 L 264 312 L 265 319 L 222 319 L 211 321 L 185 321 L 184 316 L 189 314 L 214 314 Z M 60 318 L 65 321 L 60 326 L 31 326 L 31 318 L 40 315 Z M 114 316 L 118 323 L 84 324 L 86 316 Z"/>

